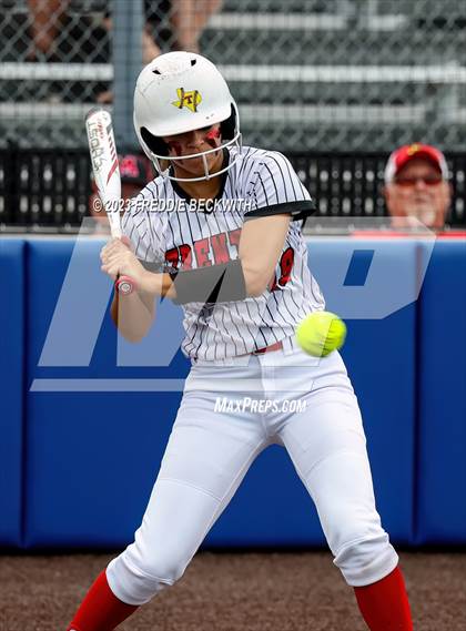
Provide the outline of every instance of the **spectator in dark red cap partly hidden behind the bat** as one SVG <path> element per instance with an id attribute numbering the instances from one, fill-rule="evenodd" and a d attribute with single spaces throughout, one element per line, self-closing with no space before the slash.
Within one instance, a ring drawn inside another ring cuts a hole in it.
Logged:
<path id="1" fill-rule="evenodd" d="M 119 155 L 121 197 L 125 207 L 128 200 L 138 195 L 145 184 L 153 177 L 152 166 L 145 156 L 131 153 Z M 94 220 L 94 234 L 110 234 L 109 220 L 101 207 L 95 183 L 92 181 L 92 194 L 89 199 L 89 214 Z"/>

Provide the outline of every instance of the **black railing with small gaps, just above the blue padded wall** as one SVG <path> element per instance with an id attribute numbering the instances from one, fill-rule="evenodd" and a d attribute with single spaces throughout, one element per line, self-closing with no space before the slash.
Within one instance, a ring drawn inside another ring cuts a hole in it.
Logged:
<path id="1" fill-rule="evenodd" d="M 358 228 L 391 230 L 383 195 L 386 153 L 292 152 L 288 157 L 317 201 L 307 231 L 352 234 Z M 466 154 L 446 157 L 453 185 L 447 230 L 465 230 Z M 0 235 L 92 232 L 90 200 L 87 149 L 0 149 Z"/>

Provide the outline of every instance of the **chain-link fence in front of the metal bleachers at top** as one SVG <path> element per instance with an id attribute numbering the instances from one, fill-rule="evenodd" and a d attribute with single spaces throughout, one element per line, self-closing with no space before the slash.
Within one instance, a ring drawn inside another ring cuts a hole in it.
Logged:
<path id="1" fill-rule="evenodd" d="M 0 0 L 1 145 L 85 144 L 84 113 L 97 101 L 112 106 L 118 94 L 113 18 L 122 4 L 134 10 L 138 2 Z M 159 51 L 199 49 L 229 80 L 247 144 L 388 151 L 423 140 L 464 150 L 466 4 L 459 0 L 148 0 L 141 7 L 143 32 L 138 42 L 119 40 L 119 54 L 149 60 Z"/>

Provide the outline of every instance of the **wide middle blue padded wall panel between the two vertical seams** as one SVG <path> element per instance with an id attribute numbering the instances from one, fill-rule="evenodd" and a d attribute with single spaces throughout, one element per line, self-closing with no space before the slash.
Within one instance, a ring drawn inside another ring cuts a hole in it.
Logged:
<path id="1" fill-rule="evenodd" d="M 101 244 L 80 246 L 78 268 L 87 285 L 78 285 L 67 298 L 67 286 L 73 284 L 73 265 L 68 268 L 73 245 L 71 240 L 29 244 L 28 383 L 34 385 L 28 394 L 26 543 L 120 547 L 131 540 L 141 519 L 180 394 L 43 391 L 43 383 L 58 379 L 52 389 L 65 389 L 70 386 L 63 379 L 74 379 L 71 387 L 79 388 L 75 384 L 83 379 L 183 378 L 188 364 L 178 355 L 166 368 L 116 366 L 114 327 L 108 314 L 99 319 L 102 294 L 108 299 L 111 291 L 99 271 Z M 328 308 L 335 311 L 345 308 L 338 303 L 344 282 L 364 285 L 365 276 L 371 279 L 371 257 L 365 256 L 362 269 L 355 262 L 348 281 L 348 247 L 353 247 L 348 242 L 310 245 L 312 268 L 331 297 Z M 382 250 L 377 256 L 383 266 L 402 266 L 406 283 L 414 286 L 414 246 Z M 352 297 L 345 299 L 351 303 Z M 57 304 L 69 323 L 57 325 Z M 99 330 L 87 355 L 82 330 L 93 327 L 95 333 L 93 318 Z M 350 320 L 344 350 L 365 417 L 383 521 L 393 539 L 403 542 L 411 541 L 413 522 L 414 322 L 414 305 L 384 319 Z M 58 332 L 54 342 L 50 329 Z M 63 354 L 69 346 L 78 366 Z M 322 542 L 315 509 L 278 448 L 260 456 L 206 540 L 209 546 Z"/>

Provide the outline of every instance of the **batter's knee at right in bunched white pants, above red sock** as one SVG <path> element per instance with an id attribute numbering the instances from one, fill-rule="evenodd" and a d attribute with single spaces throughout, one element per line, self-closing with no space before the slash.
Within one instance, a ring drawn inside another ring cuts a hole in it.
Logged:
<path id="1" fill-rule="evenodd" d="M 371 532 L 341 546 L 334 563 L 348 584 L 361 587 L 389 574 L 398 563 L 398 556 L 381 528 L 378 533 Z"/>

